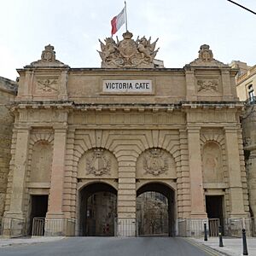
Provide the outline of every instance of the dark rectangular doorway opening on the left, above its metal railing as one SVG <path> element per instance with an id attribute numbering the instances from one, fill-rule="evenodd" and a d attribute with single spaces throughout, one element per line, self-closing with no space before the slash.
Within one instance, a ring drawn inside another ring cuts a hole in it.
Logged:
<path id="1" fill-rule="evenodd" d="M 48 195 L 31 195 L 29 235 L 32 235 L 33 218 L 45 218 L 48 209 Z"/>

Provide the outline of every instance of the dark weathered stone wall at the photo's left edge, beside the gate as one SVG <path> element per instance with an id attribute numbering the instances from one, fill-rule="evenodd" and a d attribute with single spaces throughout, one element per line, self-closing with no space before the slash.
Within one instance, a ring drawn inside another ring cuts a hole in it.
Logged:
<path id="1" fill-rule="evenodd" d="M 0 77 L 0 220 L 3 218 L 14 116 L 9 102 L 17 93 L 15 81 Z"/>

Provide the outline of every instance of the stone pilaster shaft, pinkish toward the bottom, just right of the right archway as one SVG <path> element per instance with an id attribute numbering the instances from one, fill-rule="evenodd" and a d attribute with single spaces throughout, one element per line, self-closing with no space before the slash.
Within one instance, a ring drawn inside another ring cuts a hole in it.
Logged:
<path id="1" fill-rule="evenodd" d="M 201 168 L 200 128 L 188 128 L 191 218 L 207 218 Z"/>

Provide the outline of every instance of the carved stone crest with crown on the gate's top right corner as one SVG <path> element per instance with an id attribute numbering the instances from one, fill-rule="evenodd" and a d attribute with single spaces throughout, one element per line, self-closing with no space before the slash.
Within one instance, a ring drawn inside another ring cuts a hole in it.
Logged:
<path id="1" fill-rule="evenodd" d="M 200 47 L 198 58 L 195 61 L 189 63 L 189 66 L 202 66 L 202 67 L 222 67 L 228 66 L 223 62 L 213 59 L 212 50 L 207 44 L 203 44 Z"/>

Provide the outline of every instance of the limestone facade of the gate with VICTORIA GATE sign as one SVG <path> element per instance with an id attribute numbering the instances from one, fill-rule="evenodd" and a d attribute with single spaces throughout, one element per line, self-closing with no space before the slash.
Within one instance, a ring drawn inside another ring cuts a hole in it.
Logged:
<path id="1" fill-rule="evenodd" d="M 170 195 L 174 235 L 193 232 L 183 230 L 191 219 L 202 227 L 207 196 L 222 198 L 224 218 L 250 217 L 237 70 L 208 45 L 183 68 L 72 68 L 48 45 L 18 72 L 4 218 L 23 219 L 20 230 L 31 222 L 32 195 L 48 195 L 46 218 L 74 219 L 80 235 L 83 196 L 107 185 L 119 236 L 135 236 L 137 195 L 151 183 Z M 152 87 L 104 91 L 111 80 Z"/>

